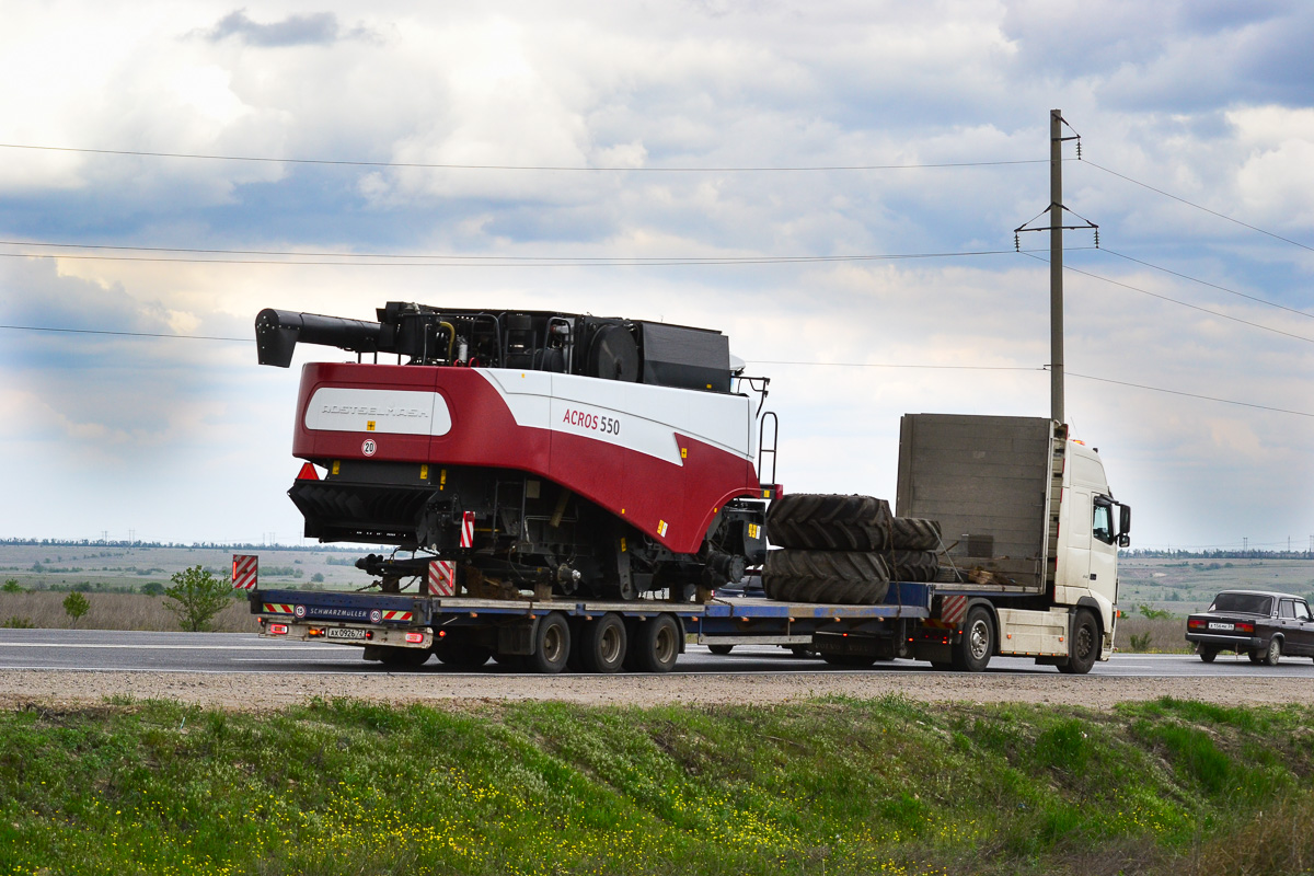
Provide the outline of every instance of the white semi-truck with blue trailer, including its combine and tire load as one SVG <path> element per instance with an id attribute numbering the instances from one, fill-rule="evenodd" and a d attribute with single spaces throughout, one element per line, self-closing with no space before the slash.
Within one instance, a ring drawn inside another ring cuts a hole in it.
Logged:
<path id="1" fill-rule="evenodd" d="M 721 332 L 403 302 L 376 317 L 256 317 L 261 364 L 302 343 L 355 353 L 302 366 L 288 495 L 305 536 L 392 548 L 356 561 L 355 592 L 255 583 L 263 637 L 545 674 L 665 672 L 687 644 L 962 671 L 1008 654 L 1088 672 L 1112 654 L 1130 507 L 1062 423 L 905 415 L 891 514 L 782 495 L 769 380 Z M 749 570 L 769 598 L 716 596 Z"/>

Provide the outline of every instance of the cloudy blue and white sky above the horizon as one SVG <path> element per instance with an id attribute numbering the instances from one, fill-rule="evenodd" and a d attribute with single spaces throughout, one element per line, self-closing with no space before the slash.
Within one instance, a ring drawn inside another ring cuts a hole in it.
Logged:
<path id="1" fill-rule="evenodd" d="M 1050 414 L 1060 109 L 1133 546 L 1314 544 L 1314 5 L 460 5 L 0 0 L 0 537 L 300 542 L 348 355 L 255 314 L 388 301 L 719 328 L 778 482 L 892 499 L 903 414 Z"/>

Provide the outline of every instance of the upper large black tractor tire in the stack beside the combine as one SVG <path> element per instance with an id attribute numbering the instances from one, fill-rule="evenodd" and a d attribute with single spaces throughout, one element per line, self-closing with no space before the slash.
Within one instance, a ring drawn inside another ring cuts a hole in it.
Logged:
<path id="1" fill-rule="evenodd" d="M 886 550 L 890 503 L 862 495 L 787 494 L 771 503 L 771 544 L 792 550 Z"/>

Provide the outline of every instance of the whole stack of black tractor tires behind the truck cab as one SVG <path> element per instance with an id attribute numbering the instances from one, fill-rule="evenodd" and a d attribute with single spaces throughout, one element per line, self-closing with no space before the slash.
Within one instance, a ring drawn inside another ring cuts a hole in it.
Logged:
<path id="1" fill-rule="evenodd" d="M 874 605 L 891 580 L 934 580 L 940 524 L 896 517 L 863 495 L 800 493 L 771 503 L 762 586 L 770 599 Z"/>

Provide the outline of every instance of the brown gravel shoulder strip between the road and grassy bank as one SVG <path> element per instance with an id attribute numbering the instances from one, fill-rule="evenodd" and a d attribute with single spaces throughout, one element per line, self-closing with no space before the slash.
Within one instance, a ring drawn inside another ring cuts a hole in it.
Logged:
<path id="1" fill-rule="evenodd" d="M 106 699 L 170 699 L 233 711 L 277 709 L 311 697 L 469 705 L 562 700 L 591 705 L 773 704 L 819 696 L 925 701 L 1054 703 L 1106 709 L 1160 696 L 1238 704 L 1314 705 L 1309 679 L 815 674 L 781 676 L 208 675 L 194 672 L 0 671 L 0 708 L 67 708 Z"/>

